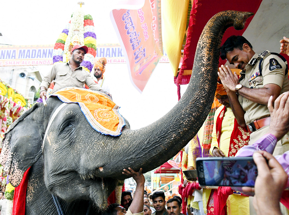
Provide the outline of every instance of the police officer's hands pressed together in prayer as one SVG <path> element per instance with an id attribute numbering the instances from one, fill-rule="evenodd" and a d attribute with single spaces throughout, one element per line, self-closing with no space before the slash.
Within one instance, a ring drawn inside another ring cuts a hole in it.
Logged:
<path id="1" fill-rule="evenodd" d="M 229 68 L 229 66 L 224 66 L 221 65 L 221 67 L 219 67 L 219 72 L 218 75 L 221 79 L 221 82 L 225 88 L 225 90 L 228 91 L 233 91 L 236 92 L 236 85 L 239 84 L 239 77 L 237 75 L 236 72 L 234 72 L 234 75 L 231 71 L 231 69 Z"/>

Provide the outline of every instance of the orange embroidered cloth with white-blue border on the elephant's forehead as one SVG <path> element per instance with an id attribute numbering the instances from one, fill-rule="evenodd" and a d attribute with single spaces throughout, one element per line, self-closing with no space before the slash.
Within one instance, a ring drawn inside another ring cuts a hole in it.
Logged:
<path id="1" fill-rule="evenodd" d="M 117 106 L 105 93 L 77 87 L 67 87 L 56 91 L 64 103 L 78 103 L 88 123 L 101 134 L 119 136 L 125 120 Z"/>

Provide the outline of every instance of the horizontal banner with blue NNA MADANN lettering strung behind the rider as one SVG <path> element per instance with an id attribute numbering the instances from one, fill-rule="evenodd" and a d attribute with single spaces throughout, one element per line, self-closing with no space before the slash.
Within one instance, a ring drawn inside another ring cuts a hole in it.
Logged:
<path id="1" fill-rule="evenodd" d="M 51 65 L 54 45 L 29 45 L 29 46 L 0 46 L 0 66 L 35 66 Z M 97 45 L 96 60 L 107 58 L 108 64 L 125 64 L 125 57 L 119 44 Z M 168 57 L 160 62 L 168 63 Z"/>

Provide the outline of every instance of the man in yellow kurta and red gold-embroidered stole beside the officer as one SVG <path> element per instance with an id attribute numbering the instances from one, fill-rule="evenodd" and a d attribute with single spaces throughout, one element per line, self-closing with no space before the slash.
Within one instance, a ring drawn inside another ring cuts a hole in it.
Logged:
<path id="1" fill-rule="evenodd" d="M 210 154 L 213 157 L 234 157 L 248 145 L 249 132 L 235 120 L 227 92 L 217 84 L 216 99 L 222 104 L 215 112 Z M 249 214 L 249 197 L 232 194 L 227 199 L 227 214 Z"/>

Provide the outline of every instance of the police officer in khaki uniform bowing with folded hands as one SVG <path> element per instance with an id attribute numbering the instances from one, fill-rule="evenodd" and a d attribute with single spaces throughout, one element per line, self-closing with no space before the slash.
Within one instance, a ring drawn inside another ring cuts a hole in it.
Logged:
<path id="1" fill-rule="evenodd" d="M 228 93 L 234 116 L 240 126 L 250 130 L 249 145 L 266 134 L 270 113 L 267 103 L 283 92 L 289 91 L 288 65 L 286 59 L 266 50 L 255 53 L 243 36 L 231 36 L 220 49 L 221 58 L 242 69 L 240 79 L 228 66 L 221 66 L 218 75 Z M 276 145 L 274 155 L 289 150 L 288 134 Z"/>

